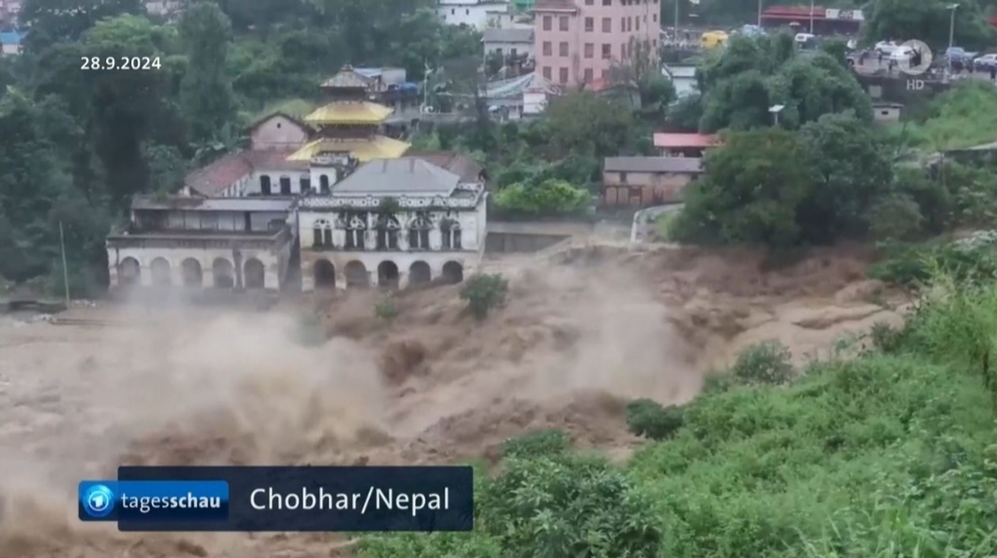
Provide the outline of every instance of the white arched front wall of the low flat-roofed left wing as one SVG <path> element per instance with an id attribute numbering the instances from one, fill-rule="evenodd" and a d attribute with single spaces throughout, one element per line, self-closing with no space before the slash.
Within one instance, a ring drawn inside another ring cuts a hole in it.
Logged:
<path id="1" fill-rule="evenodd" d="M 284 247 L 285 251 L 290 243 Z M 202 288 L 212 288 L 214 277 L 212 273 L 215 260 L 227 261 L 233 270 L 235 283 L 244 285 L 242 279 L 245 277 L 245 265 L 251 259 L 259 260 L 264 269 L 264 288 L 277 290 L 280 288 L 280 277 L 284 273 L 282 266 L 286 266 L 286 259 L 281 259 L 281 255 L 270 250 L 238 250 L 238 257 L 231 249 L 224 248 L 108 248 L 109 271 L 111 273 L 111 287 L 121 286 L 120 270 L 123 262 L 128 258 L 134 258 L 139 262 L 140 284 L 144 287 L 153 286 L 153 262 L 157 259 L 164 259 L 169 264 L 170 285 L 180 287 L 183 285 L 182 262 L 188 258 L 196 260 L 200 264 Z M 240 260 L 240 269 L 235 273 L 236 259 Z"/>

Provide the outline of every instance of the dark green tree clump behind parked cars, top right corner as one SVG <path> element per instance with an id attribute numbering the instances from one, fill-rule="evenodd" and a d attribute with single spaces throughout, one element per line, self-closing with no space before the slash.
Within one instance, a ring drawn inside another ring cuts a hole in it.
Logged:
<path id="1" fill-rule="evenodd" d="M 931 48 L 948 47 L 951 0 L 872 0 L 865 7 L 864 33 L 870 43 L 918 39 Z M 967 49 L 990 44 L 993 29 L 976 0 L 957 0 L 955 44 Z"/>

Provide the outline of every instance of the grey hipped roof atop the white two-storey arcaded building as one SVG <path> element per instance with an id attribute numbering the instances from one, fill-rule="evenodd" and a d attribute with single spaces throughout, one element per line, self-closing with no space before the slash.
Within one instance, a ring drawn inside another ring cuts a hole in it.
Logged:
<path id="1" fill-rule="evenodd" d="M 332 186 L 333 195 L 387 193 L 449 196 L 461 177 L 418 157 L 377 159 Z"/>

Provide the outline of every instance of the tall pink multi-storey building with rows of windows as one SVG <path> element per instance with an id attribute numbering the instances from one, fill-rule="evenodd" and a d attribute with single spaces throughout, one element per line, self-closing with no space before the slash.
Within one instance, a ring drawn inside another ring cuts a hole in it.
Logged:
<path id="1" fill-rule="evenodd" d="M 658 56 L 659 0 L 536 0 L 534 59 L 544 78 L 567 86 L 609 79 L 635 45 Z"/>

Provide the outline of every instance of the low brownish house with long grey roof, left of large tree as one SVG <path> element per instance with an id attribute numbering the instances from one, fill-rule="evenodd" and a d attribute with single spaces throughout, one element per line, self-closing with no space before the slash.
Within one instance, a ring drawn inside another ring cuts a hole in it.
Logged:
<path id="1" fill-rule="evenodd" d="M 663 205 L 682 201 L 682 192 L 703 172 L 698 157 L 607 157 L 602 167 L 607 206 Z"/>

